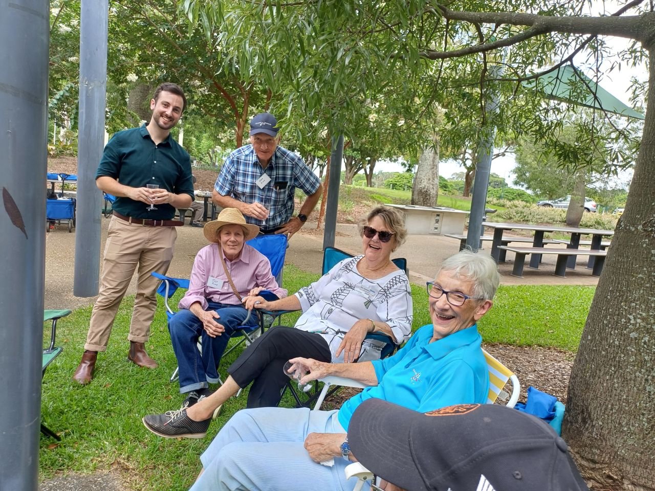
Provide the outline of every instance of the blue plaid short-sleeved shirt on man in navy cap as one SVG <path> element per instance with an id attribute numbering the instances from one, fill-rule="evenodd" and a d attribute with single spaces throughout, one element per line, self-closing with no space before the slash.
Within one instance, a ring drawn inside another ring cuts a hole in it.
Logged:
<path id="1" fill-rule="evenodd" d="M 271 181 L 262 189 L 255 181 L 266 173 Z M 214 189 L 223 196 L 232 196 L 243 203 L 258 202 L 269 209 L 266 220 L 246 216 L 246 221 L 263 230 L 282 227 L 293 215 L 293 195 L 299 187 L 305 194 L 314 194 L 320 186 L 302 158 L 278 146 L 266 169 L 261 168 L 252 145 L 236 149 L 225 159 Z"/>

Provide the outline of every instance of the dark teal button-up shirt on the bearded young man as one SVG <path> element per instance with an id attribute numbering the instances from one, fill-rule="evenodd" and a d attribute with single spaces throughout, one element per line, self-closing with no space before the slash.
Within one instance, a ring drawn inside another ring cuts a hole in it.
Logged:
<path id="1" fill-rule="evenodd" d="M 105 151 L 96 172 L 96 179 L 107 175 L 130 187 L 145 187 L 157 184 L 174 194 L 193 195 L 191 179 L 191 158 L 170 134 L 155 145 L 145 124 L 117 132 L 105 146 Z M 147 204 L 130 198 L 117 197 L 112 209 L 121 215 L 133 218 L 170 220 L 175 208 L 168 203 L 158 204 L 157 209 L 148 211 Z"/>

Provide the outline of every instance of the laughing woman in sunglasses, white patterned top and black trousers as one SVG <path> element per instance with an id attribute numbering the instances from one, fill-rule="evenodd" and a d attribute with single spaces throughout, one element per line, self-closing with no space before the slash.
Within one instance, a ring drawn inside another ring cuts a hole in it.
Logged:
<path id="1" fill-rule="evenodd" d="M 383 333 L 396 344 L 409 337 L 413 318 L 409 279 L 390 257 L 405 242 L 404 216 L 400 211 L 379 206 L 360 223 L 359 230 L 362 254 L 337 263 L 295 295 L 274 302 L 259 296 L 243 299 L 249 309 L 301 309 L 303 314 L 295 327 L 274 326 L 257 338 L 227 369 L 230 376 L 208 397 L 211 401 L 198 404 L 219 407 L 253 382 L 246 407 L 276 406 L 289 380 L 282 371 L 289 359 L 304 357 L 326 363 L 371 361 L 380 358 L 386 343 L 365 339 L 368 333 Z M 254 293 L 259 293 L 256 290 Z M 187 409 L 191 420 L 195 410 L 200 409 Z M 143 418 L 145 426 L 157 435 L 188 436 L 188 431 L 180 433 L 174 425 L 165 424 L 168 420 L 166 414 Z"/>

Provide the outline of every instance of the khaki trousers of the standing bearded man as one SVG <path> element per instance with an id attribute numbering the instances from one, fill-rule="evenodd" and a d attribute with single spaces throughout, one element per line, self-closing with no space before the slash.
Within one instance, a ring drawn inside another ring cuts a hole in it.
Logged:
<path id="1" fill-rule="evenodd" d="M 111 217 L 102 260 L 100 296 L 93 306 L 85 350 L 107 349 L 116 312 L 137 266 L 137 290 L 128 339 L 148 340 L 157 309 L 155 295 L 159 285 L 159 280 L 151 276 L 151 272 L 166 274 L 177 236 L 175 227 L 145 227 Z"/>

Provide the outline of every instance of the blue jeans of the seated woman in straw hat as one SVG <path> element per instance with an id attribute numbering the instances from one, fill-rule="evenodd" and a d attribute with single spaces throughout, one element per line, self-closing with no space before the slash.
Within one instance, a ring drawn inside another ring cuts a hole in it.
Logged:
<path id="1" fill-rule="evenodd" d="M 219 380 L 217 367 L 225 352 L 227 342 L 235 331 L 244 329 L 240 324 L 248 317 L 248 310 L 240 305 L 208 302 L 206 310 L 215 310 L 220 316 L 216 321 L 225 327 L 225 332 L 212 338 L 202 327 L 202 322 L 191 310 L 182 309 L 168 321 L 168 331 L 179 367 L 179 391 L 191 392 L 216 384 Z M 248 321 L 250 331 L 257 325 L 257 314 L 253 312 Z M 202 338 L 202 355 L 196 343 Z"/>

